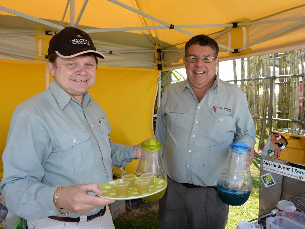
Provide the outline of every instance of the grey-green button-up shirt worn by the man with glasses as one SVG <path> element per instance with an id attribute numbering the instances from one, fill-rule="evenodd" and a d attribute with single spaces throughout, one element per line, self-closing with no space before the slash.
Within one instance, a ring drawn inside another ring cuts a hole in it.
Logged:
<path id="1" fill-rule="evenodd" d="M 253 147 L 255 126 L 245 94 L 218 79 L 198 102 L 188 80 L 168 86 L 156 122 L 167 175 L 179 183 L 216 186 L 229 145 Z"/>

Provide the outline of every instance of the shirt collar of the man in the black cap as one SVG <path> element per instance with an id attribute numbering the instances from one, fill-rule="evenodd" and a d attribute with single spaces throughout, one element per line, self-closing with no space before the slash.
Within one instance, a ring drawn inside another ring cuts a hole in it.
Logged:
<path id="1" fill-rule="evenodd" d="M 63 110 L 63 108 L 69 104 L 71 99 L 74 100 L 65 90 L 59 87 L 55 80 L 53 80 L 53 82 L 50 84 L 50 91 L 61 110 Z M 86 91 L 83 96 L 82 104 L 86 105 L 87 103 L 92 105 L 92 97 Z"/>

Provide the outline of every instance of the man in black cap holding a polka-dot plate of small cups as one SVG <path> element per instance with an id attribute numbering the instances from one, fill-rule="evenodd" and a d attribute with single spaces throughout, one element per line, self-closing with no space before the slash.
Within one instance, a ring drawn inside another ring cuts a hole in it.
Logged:
<path id="1" fill-rule="evenodd" d="M 107 205 L 114 201 L 96 196 L 99 185 L 112 180 L 112 164 L 126 165 L 141 150 L 109 139 L 106 114 L 87 92 L 96 57 L 105 58 L 85 32 L 54 35 L 47 60 L 54 81 L 13 113 L 0 189 L 29 228 L 114 228 Z"/>

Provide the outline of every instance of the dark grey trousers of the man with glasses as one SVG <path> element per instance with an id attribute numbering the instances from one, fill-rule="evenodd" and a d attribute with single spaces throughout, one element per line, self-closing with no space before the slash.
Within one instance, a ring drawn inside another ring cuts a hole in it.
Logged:
<path id="1" fill-rule="evenodd" d="M 160 229 L 224 229 L 229 205 L 214 187 L 187 188 L 168 177 L 167 191 L 159 200 Z"/>

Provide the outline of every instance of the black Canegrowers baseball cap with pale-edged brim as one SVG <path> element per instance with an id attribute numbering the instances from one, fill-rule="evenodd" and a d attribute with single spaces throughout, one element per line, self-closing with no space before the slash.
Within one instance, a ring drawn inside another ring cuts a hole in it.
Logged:
<path id="1" fill-rule="evenodd" d="M 72 58 L 84 53 L 93 53 L 99 58 L 106 58 L 102 53 L 96 51 L 87 33 L 73 27 L 64 28 L 51 38 L 48 55 L 51 53 L 56 53 L 62 58 Z"/>

